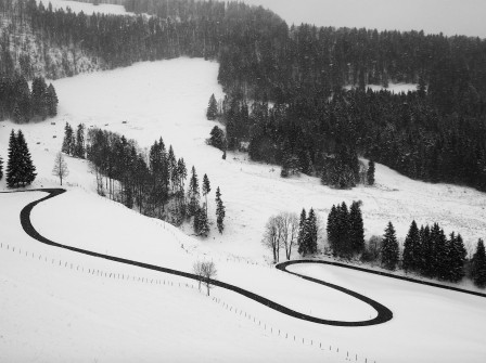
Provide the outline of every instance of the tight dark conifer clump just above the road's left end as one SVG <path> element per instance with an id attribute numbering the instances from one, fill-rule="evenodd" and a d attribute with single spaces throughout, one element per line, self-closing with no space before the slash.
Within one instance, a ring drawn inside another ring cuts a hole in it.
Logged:
<path id="1" fill-rule="evenodd" d="M 9 139 L 9 159 L 5 170 L 7 185 L 9 187 L 29 185 L 34 182 L 36 176 L 36 167 L 33 164 L 24 133 L 22 130 L 16 133 L 12 130 Z M 0 160 L 0 179 L 2 177 L 2 163 Z"/>

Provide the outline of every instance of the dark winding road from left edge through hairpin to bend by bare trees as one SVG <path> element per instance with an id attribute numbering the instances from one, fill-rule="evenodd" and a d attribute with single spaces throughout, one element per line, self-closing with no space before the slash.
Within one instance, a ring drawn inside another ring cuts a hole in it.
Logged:
<path id="1" fill-rule="evenodd" d="M 125 259 L 125 258 L 120 258 L 120 257 L 115 257 L 115 256 L 110 256 L 110 255 L 103 255 L 103 254 L 99 254 L 99 252 L 94 252 L 91 250 L 86 250 L 86 249 L 81 249 L 81 248 L 77 248 L 77 247 L 73 247 L 73 246 L 66 246 L 66 245 L 62 245 L 60 243 L 55 243 L 44 236 L 42 236 L 39 232 L 37 232 L 37 230 L 34 228 L 31 220 L 30 220 L 30 213 L 34 209 L 35 206 L 37 206 L 39 203 L 46 202 L 50 198 L 53 198 L 57 195 L 63 194 L 64 192 L 66 192 L 66 190 L 64 189 L 39 189 L 39 190 L 29 190 L 29 191 L 24 191 L 24 192 L 44 192 L 48 193 L 48 195 L 43 198 L 40 198 L 38 200 L 35 200 L 33 203 L 29 203 L 27 206 L 25 206 L 22 211 L 21 211 L 21 224 L 22 228 L 24 229 L 24 231 L 34 239 L 39 241 L 42 244 L 52 246 L 52 247 L 57 247 L 57 248 L 63 248 L 63 249 L 67 249 L 77 254 L 82 254 L 82 255 L 87 255 L 87 256 L 92 256 L 95 258 L 102 258 L 102 259 L 106 259 L 110 261 L 115 261 L 118 263 L 125 263 L 125 264 L 130 264 L 130 265 L 136 265 L 142 269 L 146 269 L 146 270 L 153 270 L 153 271 L 158 271 L 158 272 L 163 272 L 163 273 L 168 273 L 168 274 L 172 274 L 172 275 L 178 275 L 178 276 L 182 276 L 186 278 L 191 278 L 191 280 L 195 280 L 199 281 L 200 277 L 195 274 L 192 273 L 188 273 L 188 272 L 183 272 L 183 271 L 178 271 L 178 270 L 172 270 L 172 269 L 167 269 L 167 268 L 163 268 L 163 267 L 158 267 L 158 265 L 154 265 L 154 264 L 149 264 L 149 263 L 144 263 L 144 262 L 139 262 L 139 261 L 133 261 L 133 260 L 129 260 L 129 259 Z M 8 192 L 8 193 L 16 193 L 16 192 Z M 296 261 L 299 262 L 299 261 Z M 302 262 L 300 262 L 302 263 Z M 285 267 L 289 264 L 280 264 L 277 268 L 285 271 Z M 287 273 L 294 274 L 293 272 L 289 272 L 285 271 Z M 306 277 L 306 276 L 302 276 L 306 280 L 309 280 L 311 282 L 315 282 L 317 284 L 320 285 L 325 285 L 328 287 L 337 289 L 344 294 L 347 294 L 358 300 L 361 300 L 364 303 L 368 303 L 369 306 L 371 306 L 375 311 L 376 311 L 376 316 L 374 319 L 371 320 L 366 320 L 366 321 L 356 321 L 356 322 L 347 322 L 347 321 L 333 321 L 333 320 L 325 320 L 325 319 L 320 319 L 320 317 L 316 317 L 316 316 L 311 316 L 311 315 L 307 315 L 307 314 L 303 314 L 300 312 L 294 311 L 292 309 L 289 309 L 278 302 L 274 302 L 270 299 L 267 299 L 263 296 L 259 296 L 257 294 L 251 293 L 248 290 L 245 290 L 241 287 L 234 286 L 234 285 L 230 285 L 227 283 L 223 283 L 221 281 L 217 281 L 217 280 L 210 280 L 210 284 L 213 284 L 214 286 L 218 286 L 221 288 L 226 288 L 229 290 L 232 290 L 236 294 L 240 294 L 242 296 L 245 296 L 256 302 L 259 302 L 270 309 L 273 309 L 276 311 L 279 311 L 283 314 L 286 314 L 289 316 L 293 316 L 303 321 L 307 321 L 307 322 L 312 322 L 312 323 L 317 323 L 317 324 L 323 324 L 323 325 L 333 325 L 333 326 L 369 326 L 369 325 L 376 325 L 376 324 L 382 324 L 382 323 L 386 323 L 389 320 L 393 319 L 393 313 L 392 311 L 384 307 L 383 304 L 381 304 L 378 301 L 374 301 L 366 296 L 362 296 L 358 293 L 351 291 L 349 289 L 343 288 L 341 286 L 337 285 L 333 285 L 333 284 L 329 284 L 325 283 L 323 281 L 317 280 L 317 278 L 311 278 L 311 277 Z"/>

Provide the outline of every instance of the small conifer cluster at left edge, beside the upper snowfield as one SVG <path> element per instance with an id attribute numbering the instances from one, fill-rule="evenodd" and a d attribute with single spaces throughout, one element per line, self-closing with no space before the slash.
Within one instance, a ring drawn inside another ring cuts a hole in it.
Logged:
<path id="1" fill-rule="evenodd" d="M 57 95 L 42 77 L 35 77 L 31 90 L 26 78 L 18 74 L 0 72 L 0 120 L 12 119 L 17 124 L 46 119 L 57 115 Z"/>

